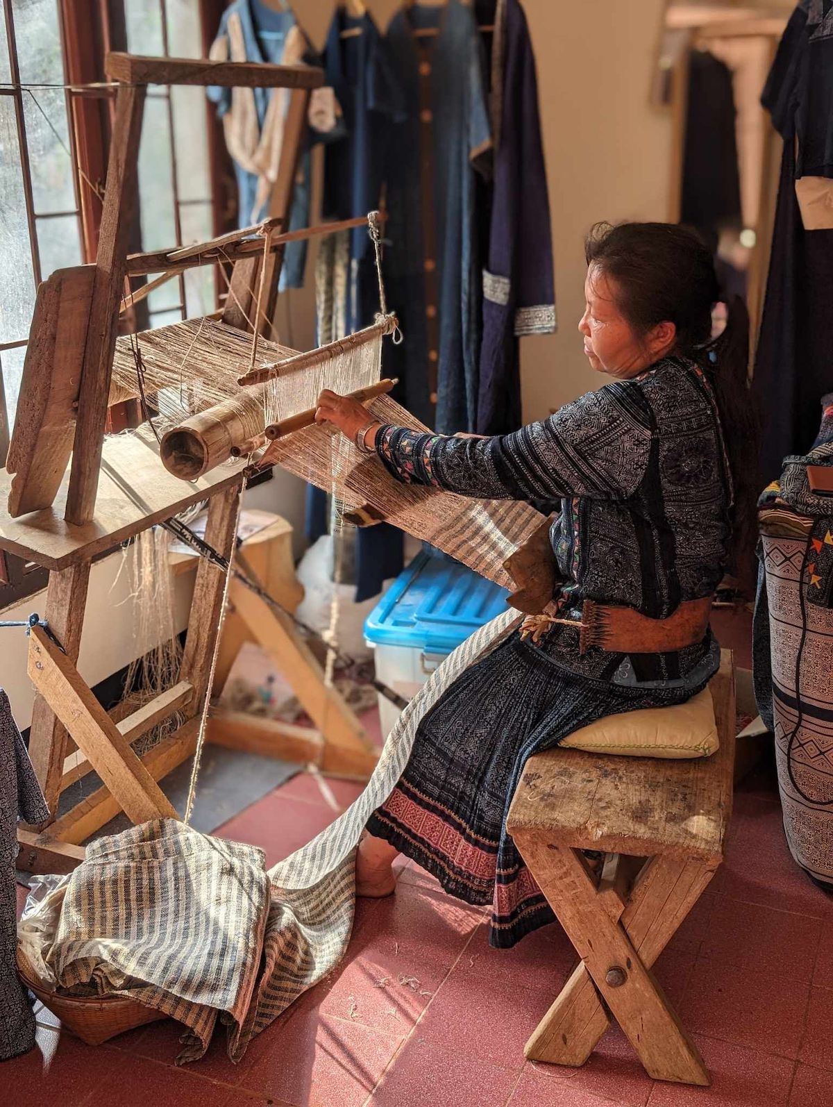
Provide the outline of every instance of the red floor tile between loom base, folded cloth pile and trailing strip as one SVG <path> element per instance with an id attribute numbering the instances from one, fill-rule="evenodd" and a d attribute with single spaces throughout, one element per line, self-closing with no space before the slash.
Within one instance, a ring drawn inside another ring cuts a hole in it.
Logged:
<path id="1" fill-rule="evenodd" d="M 336 813 L 323 804 L 285 799 L 271 793 L 229 819 L 215 834 L 218 838 L 260 846 L 267 855 L 267 868 L 271 868 L 305 846 L 334 818 Z"/>

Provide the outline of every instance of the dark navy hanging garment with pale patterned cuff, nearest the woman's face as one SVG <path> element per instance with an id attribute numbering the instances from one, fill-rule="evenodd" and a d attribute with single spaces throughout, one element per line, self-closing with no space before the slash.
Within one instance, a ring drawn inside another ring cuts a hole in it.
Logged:
<path id="1" fill-rule="evenodd" d="M 535 59 L 518 0 L 496 6 L 490 105 L 494 168 L 473 430 L 507 434 L 521 425 L 518 338 L 555 330 Z"/>

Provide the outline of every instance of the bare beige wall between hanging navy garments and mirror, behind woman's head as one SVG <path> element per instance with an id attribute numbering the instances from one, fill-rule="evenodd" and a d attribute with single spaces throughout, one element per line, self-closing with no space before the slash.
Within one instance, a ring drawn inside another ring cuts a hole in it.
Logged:
<path id="1" fill-rule="evenodd" d="M 664 0 L 523 0 L 538 64 L 559 331 L 522 340 L 524 417 L 598 377 L 582 352 L 583 236 L 598 219 L 665 219 L 670 116 L 648 104 Z"/>

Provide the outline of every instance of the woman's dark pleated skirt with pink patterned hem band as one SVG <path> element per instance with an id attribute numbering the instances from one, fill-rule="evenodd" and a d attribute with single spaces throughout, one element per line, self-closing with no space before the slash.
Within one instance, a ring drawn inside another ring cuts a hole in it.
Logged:
<path id="1" fill-rule="evenodd" d="M 491 903 L 489 942 L 508 949 L 555 918 L 504 830 L 527 758 L 605 715 L 689 694 L 579 677 L 516 634 L 467 669 L 423 718 L 399 783 L 367 828 L 447 892 Z"/>

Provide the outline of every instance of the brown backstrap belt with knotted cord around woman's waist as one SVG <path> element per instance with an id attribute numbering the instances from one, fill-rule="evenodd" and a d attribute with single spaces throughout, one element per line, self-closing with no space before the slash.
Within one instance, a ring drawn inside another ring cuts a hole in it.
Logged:
<path id="1" fill-rule="evenodd" d="M 531 637 L 533 642 L 539 642 L 558 624 L 579 631 L 580 654 L 585 654 L 593 645 L 607 653 L 675 653 L 704 640 L 709 627 L 711 599 L 707 596 L 700 600 L 684 600 L 666 619 L 652 619 L 633 608 L 585 600 L 581 622 L 543 611 L 527 615 L 521 623 L 521 637 Z"/>

